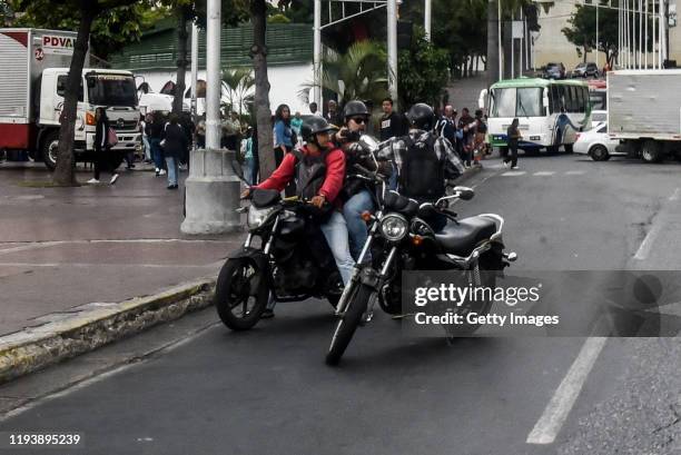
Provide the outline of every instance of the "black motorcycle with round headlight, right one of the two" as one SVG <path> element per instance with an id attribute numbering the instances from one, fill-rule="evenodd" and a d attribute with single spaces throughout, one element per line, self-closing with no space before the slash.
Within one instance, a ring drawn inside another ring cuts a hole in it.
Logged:
<path id="1" fill-rule="evenodd" d="M 364 172 L 364 178 L 374 180 L 379 209 L 373 216 L 367 214 L 369 236 L 336 307 L 339 320 L 326 355 L 328 365 L 338 364 L 357 327 L 371 320 L 376 301 L 388 314 L 402 313 L 403 270 L 461 270 L 470 285 L 493 288 L 496 276 L 516 259 L 515 253 L 504 254 L 502 217 L 484 214 L 460 220 L 450 210 L 451 201 L 473 198 L 471 188 L 454 187 L 450 196 L 435 204 L 420 205 L 388 191 L 379 176 Z M 438 233 L 426 221 L 436 214 L 450 221 Z M 366 264 L 369 251 L 372 261 Z M 491 306 L 492 301 L 465 303 L 458 311 L 485 315 Z M 472 334 L 476 328 L 464 330 Z M 450 337 L 465 334 L 447 332 Z"/>

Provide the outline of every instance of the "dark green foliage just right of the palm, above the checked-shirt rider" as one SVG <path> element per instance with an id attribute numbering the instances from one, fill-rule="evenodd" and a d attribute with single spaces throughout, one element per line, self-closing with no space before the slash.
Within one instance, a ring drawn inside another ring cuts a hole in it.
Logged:
<path id="1" fill-rule="evenodd" d="M 411 48 L 399 52 L 397 73 L 401 106 L 437 105 L 448 81 L 447 51 L 427 41 L 424 30 L 417 27 Z"/>

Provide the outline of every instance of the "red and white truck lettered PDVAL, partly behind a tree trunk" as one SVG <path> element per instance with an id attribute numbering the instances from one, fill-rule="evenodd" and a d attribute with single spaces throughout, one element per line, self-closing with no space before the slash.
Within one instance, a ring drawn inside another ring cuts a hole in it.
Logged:
<path id="1" fill-rule="evenodd" d="M 27 150 L 55 168 L 75 42 L 76 33 L 70 31 L 0 29 L 0 149 Z M 141 144 L 135 77 L 130 71 L 86 68 L 81 86 L 76 160 L 92 160 L 95 110 L 103 107 L 118 136 L 110 151 L 110 162 L 118 167 L 125 154 Z"/>

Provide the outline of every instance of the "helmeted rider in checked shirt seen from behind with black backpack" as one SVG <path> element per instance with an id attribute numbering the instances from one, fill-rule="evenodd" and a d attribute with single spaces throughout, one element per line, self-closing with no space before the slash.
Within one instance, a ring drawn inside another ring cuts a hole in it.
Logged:
<path id="1" fill-rule="evenodd" d="M 432 130 L 435 112 L 420 102 L 406 115 L 411 123 L 408 135 L 381 144 L 378 158 L 393 162 L 398 175 L 398 191 L 421 202 L 434 202 L 445 195 L 445 180 L 463 174 L 463 165 L 445 138 L 436 138 Z M 446 224 L 445 217 L 431 220 L 437 231 Z"/>

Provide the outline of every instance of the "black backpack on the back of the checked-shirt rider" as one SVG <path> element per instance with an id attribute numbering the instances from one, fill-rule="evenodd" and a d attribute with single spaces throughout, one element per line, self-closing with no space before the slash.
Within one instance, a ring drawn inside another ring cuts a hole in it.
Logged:
<path id="1" fill-rule="evenodd" d="M 424 135 L 425 136 L 425 135 Z M 420 201 L 434 201 L 445 194 L 444 169 L 446 157 L 437 157 L 435 137 L 421 136 L 405 139 L 406 151 L 402 157 L 399 174 L 401 192 Z"/>

